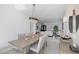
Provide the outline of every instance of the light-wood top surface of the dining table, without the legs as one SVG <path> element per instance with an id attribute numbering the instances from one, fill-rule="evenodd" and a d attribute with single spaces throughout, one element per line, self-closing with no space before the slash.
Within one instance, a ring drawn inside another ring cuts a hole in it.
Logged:
<path id="1" fill-rule="evenodd" d="M 14 45 L 20 49 L 25 48 L 27 46 L 30 46 L 31 44 L 37 42 L 39 40 L 39 37 L 29 37 L 29 39 L 18 39 L 18 40 L 13 40 L 9 41 L 11 45 Z"/>

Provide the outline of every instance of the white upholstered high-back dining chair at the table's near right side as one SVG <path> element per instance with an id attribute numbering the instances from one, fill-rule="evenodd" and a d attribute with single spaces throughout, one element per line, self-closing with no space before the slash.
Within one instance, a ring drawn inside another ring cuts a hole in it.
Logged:
<path id="1" fill-rule="evenodd" d="M 41 36 L 40 38 L 39 38 L 39 41 L 38 41 L 38 43 L 36 43 L 36 44 L 34 44 L 34 45 L 32 45 L 31 47 L 30 47 L 30 50 L 31 51 L 33 51 L 33 52 L 35 52 L 35 53 L 40 53 L 40 51 L 43 49 L 43 47 L 45 46 L 45 43 L 46 43 L 46 37 L 47 37 L 47 35 L 43 35 L 43 36 Z"/>

